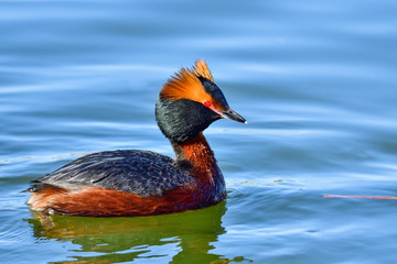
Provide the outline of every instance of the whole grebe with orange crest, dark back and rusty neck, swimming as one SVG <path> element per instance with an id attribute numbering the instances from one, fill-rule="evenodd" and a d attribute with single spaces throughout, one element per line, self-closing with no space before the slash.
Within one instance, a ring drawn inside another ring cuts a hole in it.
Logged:
<path id="1" fill-rule="evenodd" d="M 200 87 L 201 86 L 201 87 Z M 202 102 L 200 102 L 200 100 Z M 148 216 L 208 207 L 226 188 L 202 131 L 230 110 L 203 61 L 169 80 L 155 117 L 175 155 L 122 150 L 88 154 L 33 182 L 33 210 L 71 216 Z"/>

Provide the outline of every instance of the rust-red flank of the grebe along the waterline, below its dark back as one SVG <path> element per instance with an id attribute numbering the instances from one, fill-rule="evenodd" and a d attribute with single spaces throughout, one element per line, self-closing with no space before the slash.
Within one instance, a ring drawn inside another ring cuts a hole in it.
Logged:
<path id="1" fill-rule="evenodd" d="M 149 216 L 183 211 L 211 206 L 202 191 L 178 188 L 160 197 L 140 197 L 135 194 L 101 187 L 66 190 L 46 187 L 32 194 L 28 204 L 33 210 L 90 217 Z"/>

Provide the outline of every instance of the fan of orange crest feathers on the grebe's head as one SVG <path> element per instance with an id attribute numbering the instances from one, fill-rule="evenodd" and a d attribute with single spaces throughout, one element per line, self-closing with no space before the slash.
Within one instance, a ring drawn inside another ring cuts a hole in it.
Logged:
<path id="1" fill-rule="evenodd" d="M 192 69 L 181 68 L 180 72 L 175 73 L 160 91 L 161 98 L 171 100 L 189 99 L 197 102 L 212 100 L 198 77 L 214 81 L 208 66 L 201 59 L 195 63 L 195 67 Z"/>

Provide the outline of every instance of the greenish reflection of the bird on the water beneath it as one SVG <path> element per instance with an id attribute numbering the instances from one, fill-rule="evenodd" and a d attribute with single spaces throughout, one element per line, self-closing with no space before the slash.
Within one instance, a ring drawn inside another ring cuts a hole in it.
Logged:
<path id="1" fill-rule="evenodd" d="M 225 202 L 206 209 L 137 218 L 87 218 L 34 213 L 28 221 L 36 238 L 71 241 L 73 261 L 55 263 L 119 263 L 151 258 L 152 263 L 250 262 L 210 253 L 225 233 Z M 87 256 L 87 252 L 97 253 Z M 79 255 L 81 253 L 81 255 Z"/>

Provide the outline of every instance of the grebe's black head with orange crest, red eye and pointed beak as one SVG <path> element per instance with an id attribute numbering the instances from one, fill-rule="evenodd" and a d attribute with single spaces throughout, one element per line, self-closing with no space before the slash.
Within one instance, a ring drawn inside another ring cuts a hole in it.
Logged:
<path id="1" fill-rule="evenodd" d="M 162 133 L 174 142 L 184 142 L 218 119 L 246 123 L 233 111 L 204 61 L 192 69 L 175 73 L 160 91 L 155 120 Z"/>

